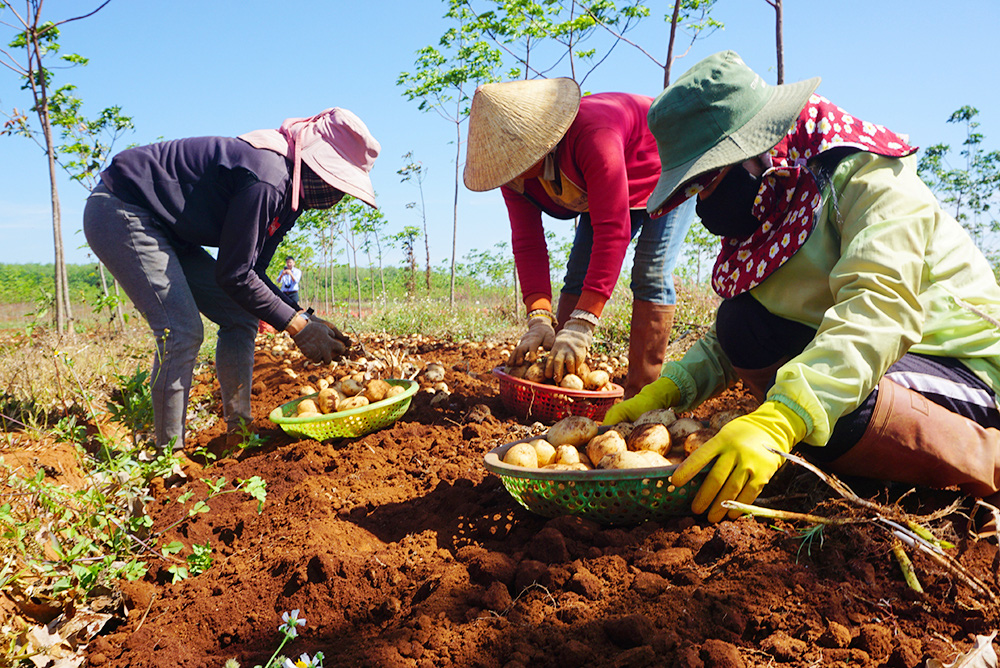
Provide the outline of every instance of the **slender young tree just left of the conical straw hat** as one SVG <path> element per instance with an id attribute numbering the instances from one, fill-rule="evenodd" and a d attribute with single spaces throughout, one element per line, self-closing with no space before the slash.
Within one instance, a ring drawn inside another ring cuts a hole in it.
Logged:
<path id="1" fill-rule="evenodd" d="M 455 126 L 455 199 L 452 213 L 451 287 L 449 301 L 455 306 L 455 255 L 458 241 L 458 192 L 461 185 L 462 123 L 469 116 L 470 92 L 478 83 L 497 80 L 500 52 L 480 39 L 478 28 L 466 7 L 453 5 L 447 14 L 458 25 L 449 28 L 438 42 L 440 49 L 425 46 L 417 51 L 416 69 L 402 72 L 396 81 L 405 86 L 408 100 L 419 100 L 421 111 L 433 109 Z"/>

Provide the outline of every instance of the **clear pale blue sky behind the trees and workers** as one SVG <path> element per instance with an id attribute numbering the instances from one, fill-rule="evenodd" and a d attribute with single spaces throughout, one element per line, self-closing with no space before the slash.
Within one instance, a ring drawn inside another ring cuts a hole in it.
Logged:
<path id="1" fill-rule="evenodd" d="M 22 3 L 15 3 L 15 6 Z M 48 18 L 86 13 L 99 0 L 46 3 Z M 662 59 L 667 0 L 650 1 L 653 16 L 629 38 Z M 237 135 L 277 127 L 288 116 L 327 107 L 358 114 L 382 144 L 372 180 L 389 230 L 419 225 L 406 208 L 416 187 L 396 174 L 413 151 L 428 171 L 426 209 L 432 262 L 451 254 L 454 198 L 454 125 L 420 112 L 396 85 L 415 52 L 436 44 L 448 27 L 437 0 L 262 2 L 259 0 L 112 0 L 95 16 L 62 28 L 63 53 L 90 59 L 57 73 L 74 83 L 84 113 L 120 105 L 135 132 L 120 146 L 198 135 Z M 710 53 L 734 49 L 774 81 L 774 12 L 764 0 L 719 0 L 713 13 L 725 30 L 698 41 L 674 67 L 674 77 Z M 0 21 L 9 21 L 0 10 Z M 946 123 L 963 105 L 980 110 L 989 149 L 1000 147 L 1000 92 L 992 55 L 1000 2 L 950 5 L 932 0 L 785 1 L 785 79 L 819 75 L 818 92 L 855 117 L 906 133 L 926 147 L 962 141 Z M 0 42 L 12 36 L 0 26 Z M 596 46 L 596 43 L 595 43 Z M 585 66 L 584 66 L 585 67 Z M 567 75 L 563 68 L 550 76 Z M 616 47 L 584 83 L 589 92 L 626 91 L 656 96 L 662 72 L 637 49 Z M 0 109 L 30 105 L 20 81 L 0 68 Z M 3 120 L 3 119 L 0 119 Z M 463 126 L 463 138 L 465 130 Z M 464 159 L 464 157 L 463 157 Z M 51 214 L 44 156 L 26 139 L 0 137 L 0 262 L 50 262 Z M 88 262 L 80 221 L 87 193 L 59 183 L 69 262 Z M 551 223 L 568 234 L 570 223 Z M 497 191 L 459 191 L 459 257 L 509 241 Z M 422 254 L 420 255 L 422 259 Z M 389 262 L 398 262 L 390 255 Z"/>

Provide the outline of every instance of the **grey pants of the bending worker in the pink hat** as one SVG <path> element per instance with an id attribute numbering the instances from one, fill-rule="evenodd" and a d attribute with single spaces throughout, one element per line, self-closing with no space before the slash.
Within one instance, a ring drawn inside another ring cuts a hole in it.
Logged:
<path id="1" fill-rule="evenodd" d="M 151 389 L 156 446 L 184 447 L 184 420 L 198 350 L 200 313 L 219 326 L 215 370 L 229 429 L 250 421 L 257 318 L 215 281 L 215 259 L 172 240 L 152 213 L 98 185 L 87 199 L 83 232 L 153 331 Z"/>

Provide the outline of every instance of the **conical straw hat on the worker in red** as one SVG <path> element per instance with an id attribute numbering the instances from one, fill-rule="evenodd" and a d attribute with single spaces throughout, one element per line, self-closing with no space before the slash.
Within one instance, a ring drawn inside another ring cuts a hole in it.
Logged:
<path id="1" fill-rule="evenodd" d="M 465 186 L 484 191 L 520 176 L 551 151 L 576 118 L 572 79 L 483 84 L 472 97 Z"/>

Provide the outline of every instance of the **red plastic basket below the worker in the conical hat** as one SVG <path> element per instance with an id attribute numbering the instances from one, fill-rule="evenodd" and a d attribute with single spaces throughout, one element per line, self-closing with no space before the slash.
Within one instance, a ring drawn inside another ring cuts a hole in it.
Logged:
<path id="1" fill-rule="evenodd" d="M 557 422 L 570 415 L 583 415 L 600 422 L 615 400 L 625 394 L 622 386 L 614 383 L 610 391 L 593 392 L 514 378 L 501 367 L 493 369 L 493 375 L 500 379 L 500 401 L 521 420 Z"/>

